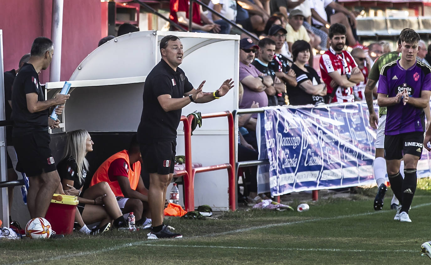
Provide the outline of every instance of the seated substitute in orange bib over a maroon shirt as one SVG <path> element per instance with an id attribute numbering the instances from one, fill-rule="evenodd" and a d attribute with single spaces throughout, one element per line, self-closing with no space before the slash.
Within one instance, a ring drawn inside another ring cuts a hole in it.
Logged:
<path id="1" fill-rule="evenodd" d="M 134 212 L 137 226 L 147 221 L 148 210 L 148 190 L 141 178 L 141 161 L 141 151 L 134 136 L 128 150 L 113 154 L 97 168 L 90 184 L 91 187 L 106 181 L 115 194 L 122 213 Z"/>

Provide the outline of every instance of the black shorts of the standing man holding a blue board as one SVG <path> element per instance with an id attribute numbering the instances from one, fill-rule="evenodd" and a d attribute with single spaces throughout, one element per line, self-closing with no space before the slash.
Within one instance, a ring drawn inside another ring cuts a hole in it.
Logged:
<path id="1" fill-rule="evenodd" d="M 18 163 L 16 170 L 27 177 L 56 170 L 50 150 L 51 137 L 47 131 L 34 131 L 31 134 L 13 137 Z"/>

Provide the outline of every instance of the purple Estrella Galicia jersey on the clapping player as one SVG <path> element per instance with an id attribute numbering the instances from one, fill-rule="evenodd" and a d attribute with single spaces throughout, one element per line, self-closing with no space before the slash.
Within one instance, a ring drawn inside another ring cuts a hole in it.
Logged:
<path id="1" fill-rule="evenodd" d="M 395 97 L 398 92 L 407 89 L 409 97 L 421 97 L 422 90 L 431 90 L 431 68 L 422 62 L 405 70 L 400 60 L 384 65 L 380 71 L 377 93 Z M 384 134 L 396 135 L 413 131 L 425 131 L 425 114 L 423 109 L 410 104 L 400 103 L 387 107 L 386 127 Z"/>

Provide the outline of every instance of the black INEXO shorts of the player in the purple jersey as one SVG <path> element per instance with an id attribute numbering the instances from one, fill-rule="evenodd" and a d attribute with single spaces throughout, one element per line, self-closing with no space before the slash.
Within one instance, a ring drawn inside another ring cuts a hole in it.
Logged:
<path id="1" fill-rule="evenodd" d="M 384 136 L 384 158 L 386 160 L 402 159 L 403 154 L 420 158 L 423 147 L 424 133 L 422 131 Z"/>

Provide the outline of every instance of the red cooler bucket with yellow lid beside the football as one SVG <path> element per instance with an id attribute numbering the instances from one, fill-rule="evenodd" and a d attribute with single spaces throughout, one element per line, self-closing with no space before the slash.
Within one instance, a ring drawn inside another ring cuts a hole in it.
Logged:
<path id="1" fill-rule="evenodd" d="M 72 234 L 77 204 L 77 196 L 54 193 L 45 219 L 50 222 L 56 234 Z"/>

